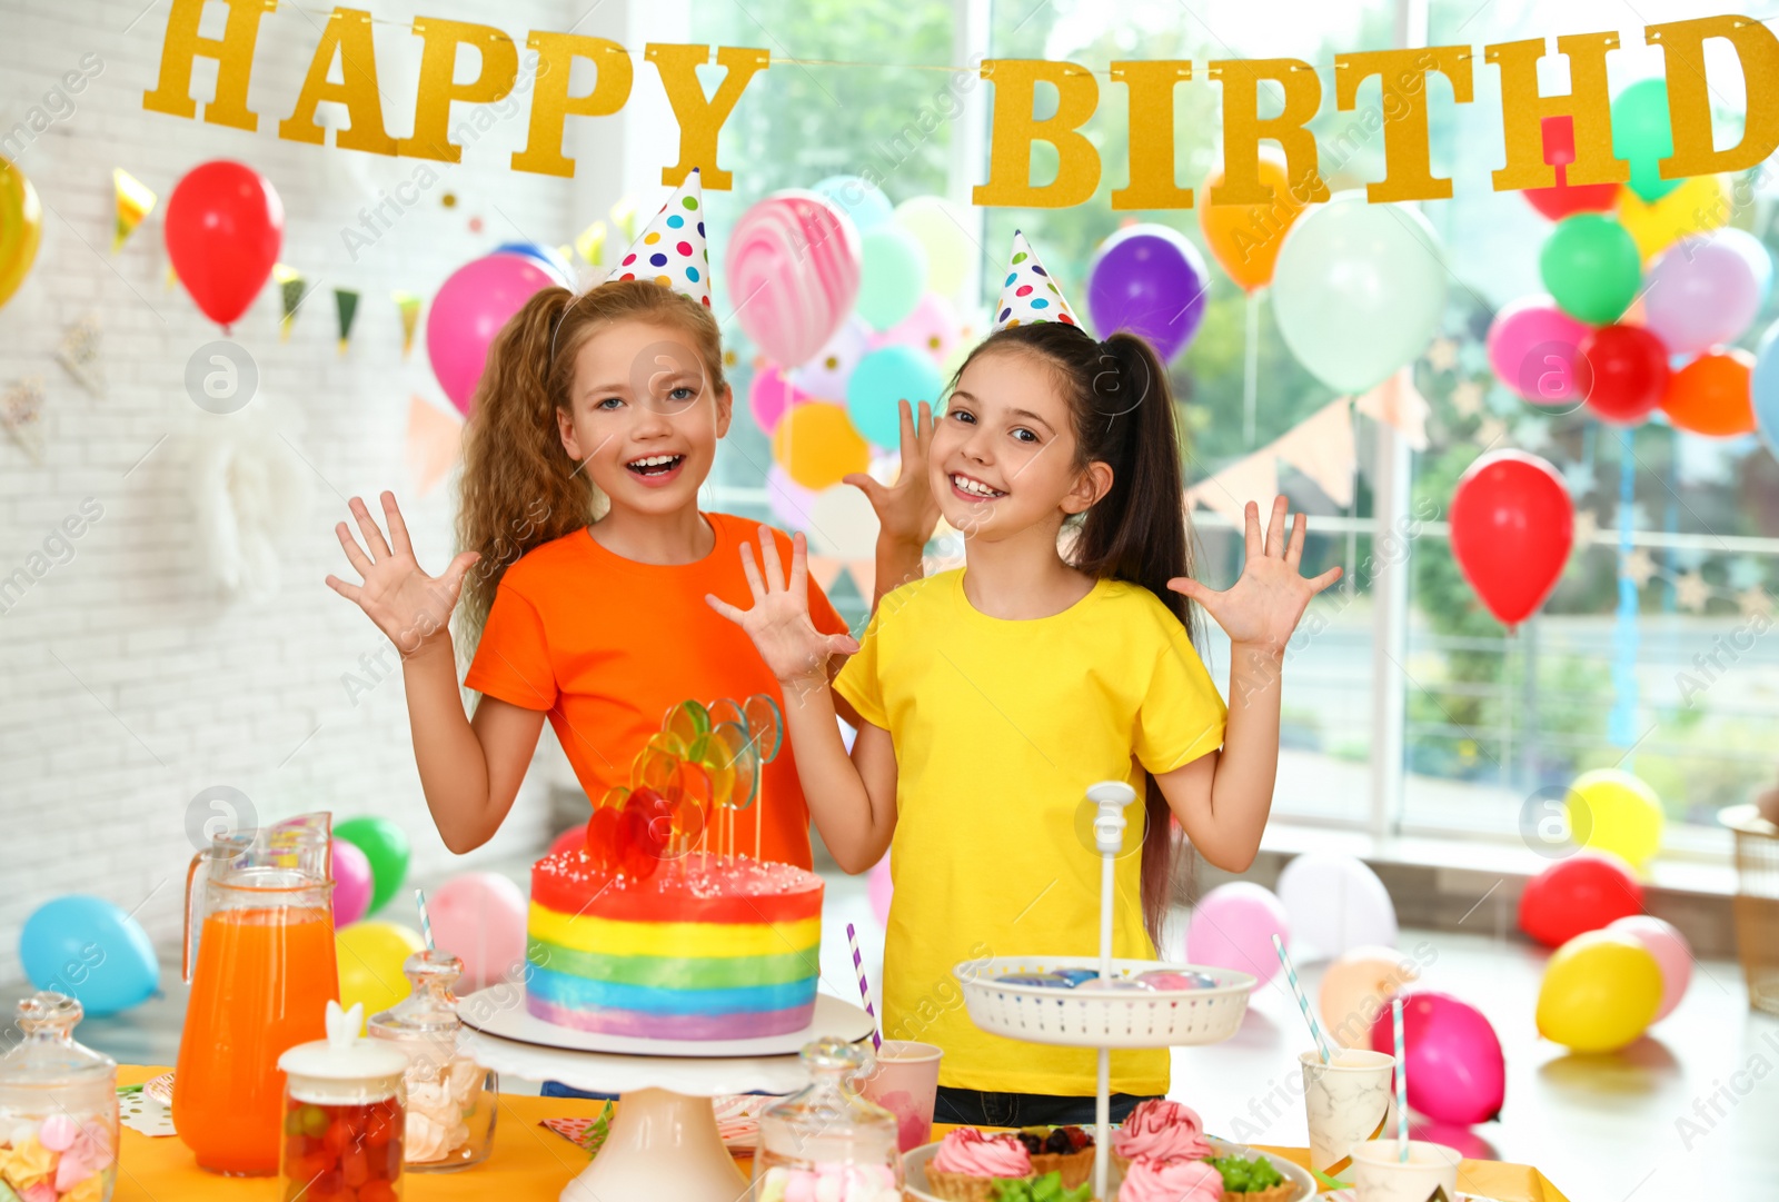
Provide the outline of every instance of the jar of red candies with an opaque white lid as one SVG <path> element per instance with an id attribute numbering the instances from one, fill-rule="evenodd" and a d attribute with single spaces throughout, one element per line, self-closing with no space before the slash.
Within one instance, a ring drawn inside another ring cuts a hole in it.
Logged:
<path id="1" fill-rule="evenodd" d="M 285 1070 L 283 1202 L 402 1197 L 407 1056 L 359 1038 L 365 1008 L 327 1003 L 327 1038 L 278 1058 Z"/>

